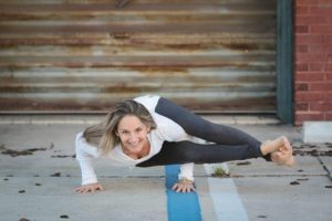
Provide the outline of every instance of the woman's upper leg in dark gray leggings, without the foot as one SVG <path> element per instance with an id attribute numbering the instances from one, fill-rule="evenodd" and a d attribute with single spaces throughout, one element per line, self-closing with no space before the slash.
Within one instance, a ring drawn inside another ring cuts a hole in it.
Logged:
<path id="1" fill-rule="evenodd" d="M 250 151 L 260 152 L 261 143 L 252 136 L 226 125 L 210 123 L 166 98 L 159 98 L 155 112 L 174 120 L 191 136 L 218 145 L 247 145 Z M 270 155 L 264 158 L 270 160 Z"/>

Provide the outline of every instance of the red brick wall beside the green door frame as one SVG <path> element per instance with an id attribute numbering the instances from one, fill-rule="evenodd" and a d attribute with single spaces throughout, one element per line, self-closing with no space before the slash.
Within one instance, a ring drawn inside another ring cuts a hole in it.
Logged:
<path id="1" fill-rule="evenodd" d="M 294 124 L 332 120 L 332 0 L 295 0 L 294 22 Z"/>

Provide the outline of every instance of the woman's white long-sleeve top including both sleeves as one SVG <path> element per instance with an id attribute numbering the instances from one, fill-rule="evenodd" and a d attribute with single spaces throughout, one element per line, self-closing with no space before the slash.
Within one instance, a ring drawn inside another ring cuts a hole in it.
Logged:
<path id="1" fill-rule="evenodd" d="M 121 144 L 118 144 L 111 152 L 106 155 L 106 157 L 110 158 L 111 166 L 134 167 L 135 165 L 143 162 L 158 154 L 164 141 L 197 140 L 197 138 L 186 134 L 186 131 L 178 124 L 155 112 L 158 99 L 159 96 L 152 95 L 137 97 L 134 99 L 147 108 L 157 125 L 157 128 L 153 129 L 147 135 L 151 144 L 149 154 L 141 159 L 133 159 L 123 152 Z M 94 158 L 102 156 L 101 151 L 85 140 L 82 131 L 76 135 L 75 147 L 76 159 L 80 162 L 82 172 L 82 185 L 97 182 L 92 161 Z M 193 170 L 194 164 L 180 165 L 180 172 L 178 175 L 179 179 L 187 178 L 194 181 Z"/>

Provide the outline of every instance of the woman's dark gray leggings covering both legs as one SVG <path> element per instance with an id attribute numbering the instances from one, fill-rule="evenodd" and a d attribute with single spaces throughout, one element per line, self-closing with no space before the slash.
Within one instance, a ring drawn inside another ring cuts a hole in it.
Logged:
<path id="1" fill-rule="evenodd" d="M 188 109 L 160 97 L 155 112 L 180 125 L 188 135 L 214 144 L 191 141 L 164 141 L 162 150 L 137 167 L 152 167 L 174 164 L 216 164 L 263 157 L 261 143 L 250 135 L 225 125 L 210 123 Z"/>

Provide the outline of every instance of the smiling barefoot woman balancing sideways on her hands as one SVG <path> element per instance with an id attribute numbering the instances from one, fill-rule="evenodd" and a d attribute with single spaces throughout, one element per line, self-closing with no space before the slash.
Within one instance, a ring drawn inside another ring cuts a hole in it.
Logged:
<path id="1" fill-rule="evenodd" d="M 205 143 L 201 143 L 201 139 Z M 105 122 L 76 136 L 76 159 L 82 171 L 80 193 L 103 190 L 92 159 L 110 158 L 115 166 L 152 167 L 180 164 L 177 192 L 194 189 L 194 164 L 215 164 L 263 157 L 292 166 L 292 147 L 286 137 L 260 143 L 225 125 L 209 123 L 159 96 L 118 103 Z"/>

